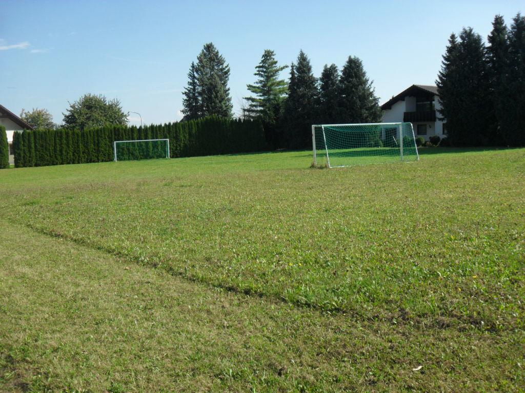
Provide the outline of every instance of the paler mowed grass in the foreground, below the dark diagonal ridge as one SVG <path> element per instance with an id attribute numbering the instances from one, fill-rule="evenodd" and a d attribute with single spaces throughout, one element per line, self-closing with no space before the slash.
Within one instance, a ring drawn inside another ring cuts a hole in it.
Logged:
<path id="1" fill-rule="evenodd" d="M 2 391 L 522 387 L 517 332 L 458 334 L 274 304 L 17 225 L 0 253 Z"/>

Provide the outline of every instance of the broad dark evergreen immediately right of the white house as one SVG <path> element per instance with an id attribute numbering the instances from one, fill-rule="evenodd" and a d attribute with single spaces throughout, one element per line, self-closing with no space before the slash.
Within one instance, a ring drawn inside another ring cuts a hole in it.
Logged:
<path id="1" fill-rule="evenodd" d="M 459 42 L 451 36 L 436 81 L 451 143 L 490 143 L 491 96 L 488 64 L 481 36 L 464 28 Z"/>

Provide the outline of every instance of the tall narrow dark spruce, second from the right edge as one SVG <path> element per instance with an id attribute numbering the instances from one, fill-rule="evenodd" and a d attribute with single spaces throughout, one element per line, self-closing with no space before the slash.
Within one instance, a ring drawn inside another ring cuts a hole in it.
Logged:
<path id="1" fill-rule="evenodd" d="M 501 122 L 505 121 L 503 115 L 503 90 L 505 74 L 509 61 L 509 37 L 505 20 L 501 15 L 496 15 L 492 22 L 492 31 L 488 36 L 487 47 L 488 78 L 491 98 L 491 118 L 489 143 L 502 145 L 504 142 L 501 134 Z"/>

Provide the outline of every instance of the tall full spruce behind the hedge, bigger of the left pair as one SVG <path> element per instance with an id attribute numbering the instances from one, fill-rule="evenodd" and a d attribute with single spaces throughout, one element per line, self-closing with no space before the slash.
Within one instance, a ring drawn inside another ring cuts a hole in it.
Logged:
<path id="1" fill-rule="evenodd" d="M 228 88 L 229 65 L 212 42 L 204 45 L 195 69 L 199 114 L 232 117 L 232 97 Z"/>

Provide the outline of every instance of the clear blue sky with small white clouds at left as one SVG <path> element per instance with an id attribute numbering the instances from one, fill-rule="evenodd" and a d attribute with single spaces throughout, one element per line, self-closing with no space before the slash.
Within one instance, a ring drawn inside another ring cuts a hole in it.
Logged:
<path id="1" fill-rule="evenodd" d="M 282 64 L 304 50 L 317 77 L 325 63 L 358 56 L 383 103 L 434 83 L 451 32 L 471 26 L 486 38 L 495 14 L 510 24 L 524 11 L 522 0 L 0 0 L 0 104 L 47 108 L 61 123 L 68 101 L 95 93 L 144 123 L 175 121 L 190 63 L 209 41 L 232 69 L 235 111 L 265 49 Z"/>

